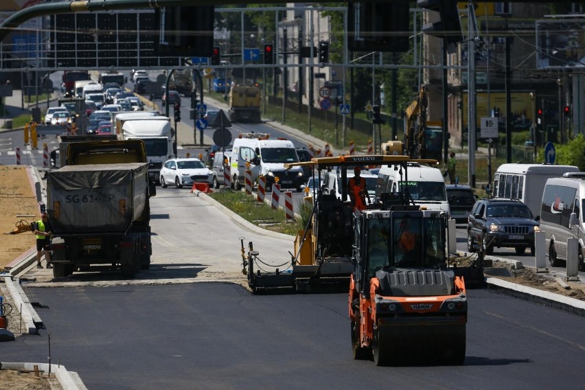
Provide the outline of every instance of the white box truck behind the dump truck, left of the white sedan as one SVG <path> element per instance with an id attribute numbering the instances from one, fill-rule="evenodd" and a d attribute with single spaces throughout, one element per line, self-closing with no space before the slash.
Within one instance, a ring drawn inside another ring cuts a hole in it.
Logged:
<path id="1" fill-rule="evenodd" d="M 159 183 L 163 163 L 173 157 L 170 119 L 162 116 L 128 119 L 122 124 L 122 137 L 144 141 L 148 173 Z"/>

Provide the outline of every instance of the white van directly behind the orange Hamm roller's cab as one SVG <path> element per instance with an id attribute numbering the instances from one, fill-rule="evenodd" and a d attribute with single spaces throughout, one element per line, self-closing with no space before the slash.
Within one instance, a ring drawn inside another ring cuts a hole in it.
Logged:
<path id="1" fill-rule="evenodd" d="M 376 198 L 380 194 L 391 194 L 394 192 L 405 192 L 408 190 L 415 205 L 426 207 L 429 210 L 443 210 L 450 216 L 449 202 L 445 179 L 438 168 L 420 165 L 420 163 L 409 163 L 408 177 L 401 169 L 393 165 L 385 165 L 378 172 L 376 183 Z"/>

